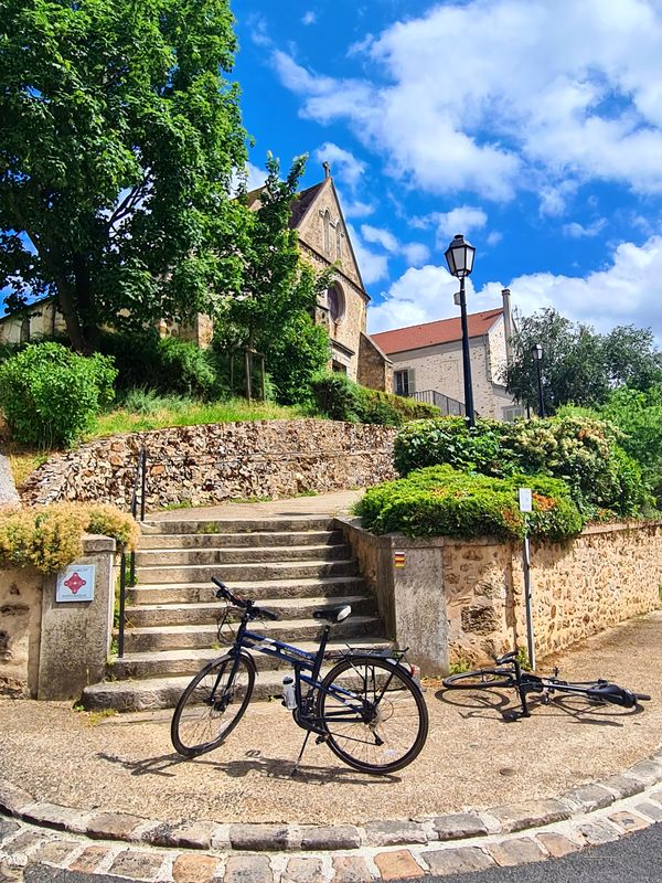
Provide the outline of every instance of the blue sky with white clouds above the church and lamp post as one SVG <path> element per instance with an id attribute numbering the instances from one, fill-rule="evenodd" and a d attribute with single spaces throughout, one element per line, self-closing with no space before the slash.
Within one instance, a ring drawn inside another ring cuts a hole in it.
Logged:
<path id="1" fill-rule="evenodd" d="M 328 159 L 369 330 L 455 316 L 444 251 L 477 247 L 471 311 L 509 286 L 662 341 L 661 0 L 234 0 L 255 138 Z"/>

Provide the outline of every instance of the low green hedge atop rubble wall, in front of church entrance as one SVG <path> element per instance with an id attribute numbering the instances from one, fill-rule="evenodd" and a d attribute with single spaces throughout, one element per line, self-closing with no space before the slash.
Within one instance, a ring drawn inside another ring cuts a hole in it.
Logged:
<path id="1" fill-rule="evenodd" d="M 339 371 L 318 374 L 312 389 L 317 406 L 333 421 L 399 426 L 407 421 L 439 414 L 434 405 L 370 390 Z"/>

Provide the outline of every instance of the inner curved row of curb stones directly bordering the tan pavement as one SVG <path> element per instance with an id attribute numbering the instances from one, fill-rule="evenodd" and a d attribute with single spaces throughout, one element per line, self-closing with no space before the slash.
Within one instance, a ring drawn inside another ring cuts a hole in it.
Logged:
<path id="1" fill-rule="evenodd" d="M 662 748 L 621 775 L 573 788 L 555 798 L 527 800 L 488 810 L 451 812 L 415 820 L 353 825 L 266 825 L 181 821 L 168 823 L 125 812 L 81 810 L 36 801 L 0 778 L 0 812 L 32 825 L 87 838 L 126 841 L 149 847 L 241 852 L 329 852 L 363 848 L 414 847 L 448 841 L 480 841 L 590 816 L 616 802 L 637 798 L 662 783 Z M 662 794 L 662 790 L 655 794 Z M 656 807 L 656 804 L 651 804 Z M 650 815 L 650 813 L 649 813 Z M 662 810 L 651 818 L 660 820 Z M 587 822 L 589 823 L 589 822 Z M 621 826 L 622 827 L 622 826 Z M 605 833 L 605 832 L 602 832 Z M 591 834 L 599 839 L 599 833 Z M 525 839 L 525 838 L 523 838 Z M 477 854 L 477 853 L 473 853 Z M 404 876 L 406 874 L 401 874 Z"/>

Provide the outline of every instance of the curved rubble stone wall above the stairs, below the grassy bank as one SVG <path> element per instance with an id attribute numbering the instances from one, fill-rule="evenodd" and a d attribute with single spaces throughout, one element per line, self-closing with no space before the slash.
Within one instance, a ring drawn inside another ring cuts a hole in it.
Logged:
<path id="1" fill-rule="evenodd" d="M 51 457 L 22 488 L 25 503 L 105 501 L 128 510 L 138 451 L 149 511 L 248 497 L 369 487 L 395 477 L 396 430 L 332 421 L 259 421 L 100 438 Z"/>

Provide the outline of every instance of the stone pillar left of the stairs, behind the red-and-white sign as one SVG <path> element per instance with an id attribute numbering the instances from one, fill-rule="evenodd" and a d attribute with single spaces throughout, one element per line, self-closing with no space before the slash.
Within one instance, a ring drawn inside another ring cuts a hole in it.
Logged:
<path id="1" fill-rule="evenodd" d="M 73 700 L 102 681 L 110 650 L 115 605 L 115 540 L 86 536 L 76 564 L 96 566 L 94 600 L 56 602 L 56 577 L 42 595 L 38 699 Z"/>

